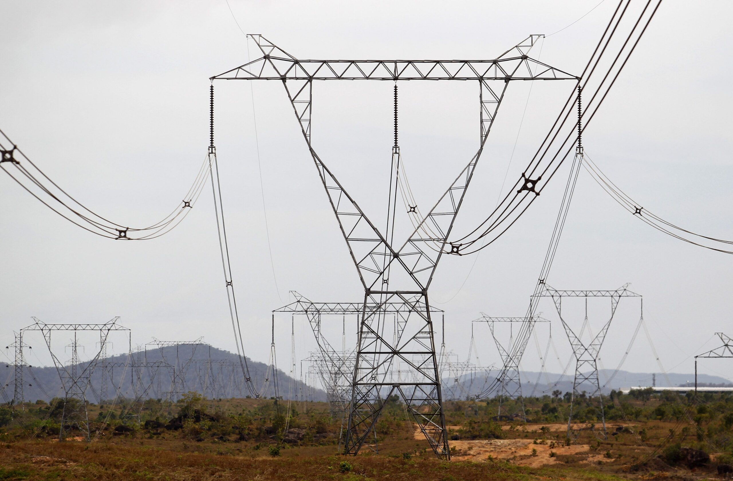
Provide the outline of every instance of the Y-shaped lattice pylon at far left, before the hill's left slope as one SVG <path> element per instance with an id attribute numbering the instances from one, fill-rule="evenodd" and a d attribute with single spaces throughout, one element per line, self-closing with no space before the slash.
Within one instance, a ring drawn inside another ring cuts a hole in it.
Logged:
<path id="1" fill-rule="evenodd" d="M 104 324 L 47 324 L 36 317 L 32 318 L 35 323 L 23 331 L 41 331 L 51 359 L 54 360 L 56 372 L 59 374 L 62 386 L 64 388 L 64 410 L 61 417 L 61 428 L 59 429 L 59 441 L 63 441 L 65 434 L 73 428 L 81 431 L 86 436 L 86 440 L 90 440 L 89 435 L 89 414 L 86 410 L 86 390 L 89 388 L 92 374 L 97 367 L 97 361 L 102 353 L 103 345 L 107 342 L 107 338 L 111 331 L 127 331 L 130 337 L 130 329 L 117 324 L 119 317 L 114 317 Z M 71 360 L 68 364 L 54 354 L 51 348 L 51 333 L 54 331 L 73 331 L 74 337 L 70 344 L 72 349 Z M 98 331 L 100 333 L 100 350 L 95 356 L 84 366 L 78 358 L 78 340 L 77 331 Z"/>

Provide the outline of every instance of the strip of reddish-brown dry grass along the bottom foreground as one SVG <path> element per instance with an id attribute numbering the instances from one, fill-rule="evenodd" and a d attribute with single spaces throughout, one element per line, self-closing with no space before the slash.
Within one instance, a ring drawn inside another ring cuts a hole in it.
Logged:
<path id="1" fill-rule="evenodd" d="M 0 448 L 1 480 L 517 480 L 529 471 L 504 463 L 441 462 L 402 456 L 216 455 L 163 447 L 48 441 Z M 351 465 L 342 471 L 341 463 Z"/>

